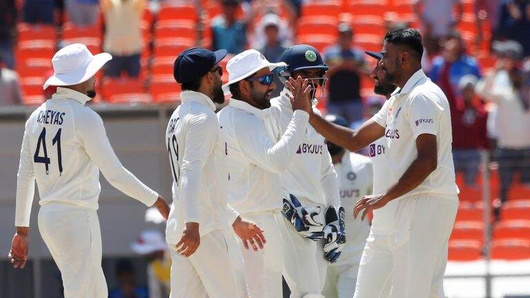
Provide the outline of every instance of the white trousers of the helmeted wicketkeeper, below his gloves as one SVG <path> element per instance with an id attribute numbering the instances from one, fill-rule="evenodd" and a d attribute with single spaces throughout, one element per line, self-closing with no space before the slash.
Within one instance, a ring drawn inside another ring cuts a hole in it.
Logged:
<path id="1" fill-rule="evenodd" d="M 304 197 L 298 200 L 302 206 L 325 206 Z M 322 290 L 326 282 L 328 261 L 324 259 L 324 242 L 306 239 L 295 230 L 291 222 L 282 216 L 278 221 L 284 250 L 284 279 L 291 290 L 291 298 L 324 298 Z"/>

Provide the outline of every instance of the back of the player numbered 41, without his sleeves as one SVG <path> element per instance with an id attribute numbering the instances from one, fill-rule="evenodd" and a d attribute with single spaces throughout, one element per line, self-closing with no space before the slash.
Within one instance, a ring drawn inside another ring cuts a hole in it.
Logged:
<path id="1" fill-rule="evenodd" d="M 77 136 L 81 126 L 86 127 L 94 121 L 101 122 L 102 126 L 102 121 L 99 115 L 84 106 L 84 102 L 81 103 L 82 100 L 67 95 L 71 92 L 56 93 L 32 112 L 25 132 L 31 156 L 25 158 L 32 163 L 41 204 L 70 201 L 97 209 L 101 190 L 99 170 L 90 161 L 84 143 Z"/>

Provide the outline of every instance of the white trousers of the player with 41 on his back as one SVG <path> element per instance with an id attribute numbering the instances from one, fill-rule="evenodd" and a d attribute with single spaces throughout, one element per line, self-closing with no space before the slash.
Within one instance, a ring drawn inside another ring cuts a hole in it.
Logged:
<path id="1" fill-rule="evenodd" d="M 46 203 L 39 210 L 39 231 L 61 270 L 65 298 L 108 297 L 95 210 L 70 203 Z"/>

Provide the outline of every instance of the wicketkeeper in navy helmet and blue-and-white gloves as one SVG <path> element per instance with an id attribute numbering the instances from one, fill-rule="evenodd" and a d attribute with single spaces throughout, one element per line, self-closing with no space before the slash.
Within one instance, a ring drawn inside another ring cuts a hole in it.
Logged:
<path id="1" fill-rule="evenodd" d="M 328 68 L 312 46 L 291 46 L 280 61 L 288 65 L 277 68 L 280 79 L 308 79 L 312 100 L 317 87 L 324 87 L 323 75 Z M 279 141 L 293 117 L 291 90 L 284 88 L 279 97 L 271 99 L 270 111 L 266 127 L 273 141 Z M 311 126 L 292 159 L 280 175 L 289 194 L 282 208 L 284 220 L 278 223 L 284 244 L 284 278 L 291 298 L 320 298 L 324 297 L 327 265 L 337 260 L 345 241 L 337 173 L 324 137 Z"/>

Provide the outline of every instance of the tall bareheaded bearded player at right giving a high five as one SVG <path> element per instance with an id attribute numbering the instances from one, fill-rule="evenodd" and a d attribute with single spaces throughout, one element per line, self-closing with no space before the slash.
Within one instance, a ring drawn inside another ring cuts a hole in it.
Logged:
<path id="1" fill-rule="evenodd" d="M 362 219 L 374 210 L 354 297 L 386 297 L 387 286 L 392 298 L 445 297 L 447 242 L 458 208 L 449 103 L 421 69 L 417 30 L 387 33 L 381 54 L 384 79 L 398 88 L 377 115 L 352 132 L 310 113 L 310 123 L 346 149 L 386 139 L 384 147 L 370 148 L 384 157 L 386 170 L 375 179 L 385 185 L 354 210 Z"/>

